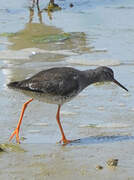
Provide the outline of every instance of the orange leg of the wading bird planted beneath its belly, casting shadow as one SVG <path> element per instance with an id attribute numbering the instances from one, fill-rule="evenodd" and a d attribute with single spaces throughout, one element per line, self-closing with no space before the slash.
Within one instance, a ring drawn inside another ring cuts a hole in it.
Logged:
<path id="1" fill-rule="evenodd" d="M 62 125 L 61 125 L 61 122 L 60 122 L 60 108 L 61 108 L 61 105 L 58 106 L 58 111 L 57 111 L 57 115 L 56 115 L 57 123 L 59 125 L 60 131 L 61 131 L 61 135 L 62 135 L 62 139 L 61 139 L 60 143 L 68 144 L 68 143 L 71 143 L 72 141 L 71 140 L 67 140 L 66 136 L 64 134 L 64 131 L 63 131 L 63 128 L 62 128 Z"/>

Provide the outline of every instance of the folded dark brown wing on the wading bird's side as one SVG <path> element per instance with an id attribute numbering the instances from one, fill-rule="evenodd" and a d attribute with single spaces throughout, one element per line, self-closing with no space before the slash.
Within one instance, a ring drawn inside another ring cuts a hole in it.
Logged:
<path id="1" fill-rule="evenodd" d="M 66 96 L 79 90 L 79 76 L 74 71 L 42 71 L 21 82 L 25 90 Z"/>

